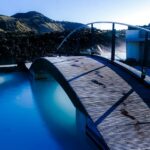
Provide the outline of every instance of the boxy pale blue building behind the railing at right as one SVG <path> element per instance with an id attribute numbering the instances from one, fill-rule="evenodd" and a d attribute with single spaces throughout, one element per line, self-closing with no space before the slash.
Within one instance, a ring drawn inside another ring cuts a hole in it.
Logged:
<path id="1" fill-rule="evenodd" d="M 126 55 L 127 60 L 150 66 L 150 33 L 129 28 L 126 31 Z"/>

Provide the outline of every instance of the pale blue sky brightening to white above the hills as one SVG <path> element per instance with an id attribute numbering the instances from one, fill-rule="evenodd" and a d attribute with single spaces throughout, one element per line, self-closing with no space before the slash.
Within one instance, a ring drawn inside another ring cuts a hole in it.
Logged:
<path id="1" fill-rule="evenodd" d="M 0 14 L 38 11 L 59 21 L 150 23 L 150 0 L 0 0 Z"/>

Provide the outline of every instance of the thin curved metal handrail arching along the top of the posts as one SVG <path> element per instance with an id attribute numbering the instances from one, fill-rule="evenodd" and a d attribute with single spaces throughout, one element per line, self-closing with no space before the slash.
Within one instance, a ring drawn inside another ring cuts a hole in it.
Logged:
<path id="1" fill-rule="evenodd" d="M 146 29 L 146 28 L 143 28 L 143 27 L 140 27 L 140 26 L 134 26 L 134 25 L 126 24 L 126 23 L 121 23 L 121 22 L 112 22 L 112 21 L 96 21 L 96 22 L 90 22 L 90 23 L 81 25 L 80 27 L 78 27 L 78 28 L 74 29 L 72 32 L 70 32 L 70 33 L 63 39 L 63 41 L 59 44 L 59 46 L 57 47 L 57 51 L 59 51 L 59 49 L 62 47 L 62 45 L 65 43 L 65 41 L 66 41 L 73 33 L 75 33 L 76 31 L 78 31 L 78 30 L 80 30 L 80 29 L 83 29 L 83 28 L 85 28 L 85 27 L 88 26 L 88 25 L 101 24 L 101 23 L 124 25 L 124 26 L 127 26 L 127 27 L 133 27 L 133 28 L 136 28 L 136 29 L 139 29 L 139 30 L 143 30 L 143 31 L 146 31 L 146 32 L 150 32 L 149 29 Z"/>

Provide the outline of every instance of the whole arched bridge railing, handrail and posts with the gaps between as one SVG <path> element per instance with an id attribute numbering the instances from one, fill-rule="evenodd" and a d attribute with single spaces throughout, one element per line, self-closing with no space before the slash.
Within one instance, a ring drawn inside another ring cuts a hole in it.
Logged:
<path id="1" fill-rule="evenodd" d="M 57 53 L 101 55 L 137 69 L 145 79 L 150 73 L 150 30 L 119 22 L 92 22 L 70 32 Z"/>

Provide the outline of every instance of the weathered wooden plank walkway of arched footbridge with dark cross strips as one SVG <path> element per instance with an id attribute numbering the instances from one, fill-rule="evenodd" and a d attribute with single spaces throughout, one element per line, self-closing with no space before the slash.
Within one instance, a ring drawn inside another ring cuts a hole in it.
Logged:
<path id="1" fill-rule="evenodd" d="M 150 88 L 109 61 L 48 57 L 63 74 L 111 150 L 150 150 Z"/>

